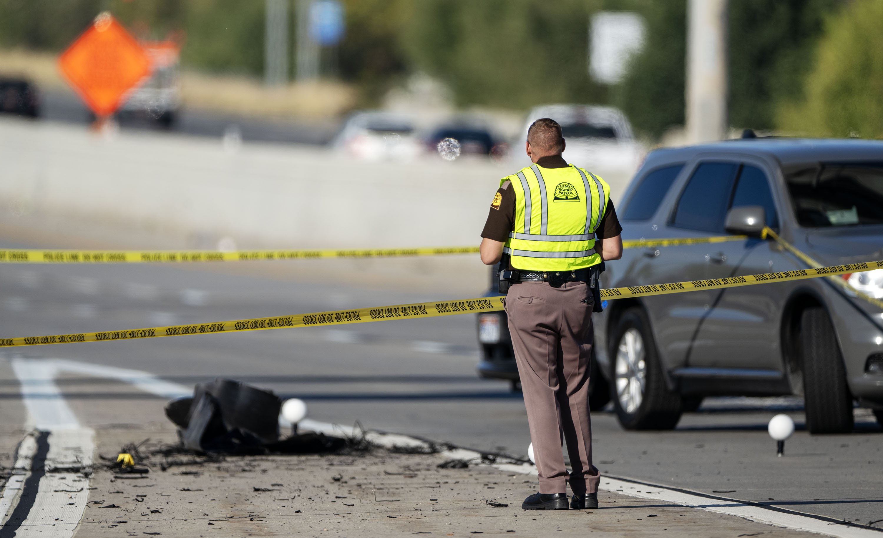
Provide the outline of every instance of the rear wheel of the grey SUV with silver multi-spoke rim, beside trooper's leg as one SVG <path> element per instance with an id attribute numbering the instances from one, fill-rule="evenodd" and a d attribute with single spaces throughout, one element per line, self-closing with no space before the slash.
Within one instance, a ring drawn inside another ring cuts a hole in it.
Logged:
<path id="1" fill-rule="evenodd" d="M 610 353 L 610 398 L 625 429 L 672 429 L 681 419 L 681 395 L 668 390 L 641 308 L 630 308 L 616 325 Z"/>

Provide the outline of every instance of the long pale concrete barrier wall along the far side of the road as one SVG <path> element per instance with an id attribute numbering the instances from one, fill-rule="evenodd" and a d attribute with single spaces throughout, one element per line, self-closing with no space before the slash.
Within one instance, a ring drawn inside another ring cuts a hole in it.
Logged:
<path id="1" fill-rule="evenodd" d="M 230 236 L 248 248 L 476 245 L 499 178 L 514 166 L 365 163 L 269 144 L 225 151 L 221 140 L 174 133 L 102 137 L 80 126 L 0 120 L 4 217 Z M 605 178 L 618 200 L 627 178 Z"/>

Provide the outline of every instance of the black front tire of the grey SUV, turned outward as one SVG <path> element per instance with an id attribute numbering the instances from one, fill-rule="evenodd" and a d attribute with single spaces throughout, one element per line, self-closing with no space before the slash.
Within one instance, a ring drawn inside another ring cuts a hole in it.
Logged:
<path id="1" fill-rule="evenodd" d="M 806 308 L 800 316 L 806 428 L 811 434 L 852 431 L 852 395 L 834 326 L 824 307 Z"/>

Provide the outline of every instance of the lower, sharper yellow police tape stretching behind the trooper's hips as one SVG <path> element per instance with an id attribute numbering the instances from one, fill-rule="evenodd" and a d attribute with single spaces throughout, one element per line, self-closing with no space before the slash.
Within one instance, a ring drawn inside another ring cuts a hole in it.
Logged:
<path id="1" fill-rule="evenodd" d="M 667 293 L 683 293 L 695 290 L 713 290 L 733 288 L 753 284 L 772 284 L 804 278 L 827 277 L 843 273 L 855 273 L 883 268 L 883 261 L 867 261 L 849 263 L 817 269 L 798 269 L 764 273 L 745 277 L 713 278 L 711 280 L 695 280 L 692 282 L 675 282 L 672 284 L 650 284 L 626 288 L 608 288 L 600 290 L 602 299 L 625 299 L 628 297 L 645 297 Z M 47 345 L 72 342 L 107 342 L 111 340 L 128 340 L 135 338 L 174 337 L 183 335 L 211 334 L 221 332 L 242 332 L 245 330 L 285 329 L 288 327 L 324 327 L 345 323 L 380 322 L 387 320 L 423 319 L 440 315 L 470 314 L 493 312 L 503 309 L 504 297 L 481 297 L 449 301 L 415 303 L 411 305 L 395 305 L 391 307 L 356 308 L 352 310 L 335 310 L 316 312 L 313 314 L 280 315 L 231 322 L 200 323 L 196 325 L 175 325 L 170 327 L 152 327 L 148 329 L 114 330 L 107 332 L 88 332 L 79 334 L 53 335 L 47 337 L 0 338 L 0 347 L 19 345 Z"/>

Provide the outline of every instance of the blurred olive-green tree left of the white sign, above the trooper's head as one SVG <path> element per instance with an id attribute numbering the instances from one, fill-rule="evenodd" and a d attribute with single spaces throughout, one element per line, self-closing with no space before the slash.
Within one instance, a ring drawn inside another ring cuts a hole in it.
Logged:
<path id="1" fill-rule="evenodd" d="M 423 0 L 404 27 L 415 68 L 453 89 L 460 104 L 526 108 L 598 102 L 586 69 L 591 0 Z"/>

